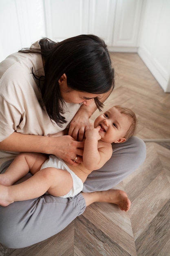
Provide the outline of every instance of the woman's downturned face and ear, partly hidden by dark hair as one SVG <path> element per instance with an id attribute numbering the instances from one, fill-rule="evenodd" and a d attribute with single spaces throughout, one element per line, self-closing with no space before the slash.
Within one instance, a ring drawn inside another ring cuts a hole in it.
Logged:
<path id="1" fill-rule="evenodd" d="M 100 94 L 88 92 L 79 92 L 68 87 L 66 75 L 63 74 L 58 81 L 62 99 L 67 103 L 83 103 L 85 106 L 90 105 L 95 97 L 100 97 Z"/>

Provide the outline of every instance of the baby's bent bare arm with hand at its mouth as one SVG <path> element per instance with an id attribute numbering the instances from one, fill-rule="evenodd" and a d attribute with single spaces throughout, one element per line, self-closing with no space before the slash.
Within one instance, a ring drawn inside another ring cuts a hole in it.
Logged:
<path id="1" fill-rule="evenodd" d="M 100 126 L 86 131 L 84 142 L 83 163 L 91 171 L 101 168 L 112 156 L 113 150 L 111 144 L 99 141 Z"/>

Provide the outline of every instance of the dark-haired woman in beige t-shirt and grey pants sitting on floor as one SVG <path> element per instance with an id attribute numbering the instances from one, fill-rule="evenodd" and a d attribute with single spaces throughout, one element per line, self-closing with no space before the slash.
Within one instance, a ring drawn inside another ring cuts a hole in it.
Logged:
<path id="1" fill-rule="evenodd" d="M 2 61 L 0 77 L 1 173 L 24 151 L 53 154 L 79 164 L 88 119 L 114 88 L 114 71 L 104 41 L 93 35 L 60 43 L 42 39 Z M 68 135 L 49 136 L 68 124 Z M 110 189 L 144 158 L 140 139 L 114 145 L 113 157 L 89 176 L 83 191 Z M 0 243 L 11 248 L 38 243 L 64 229 L 92 202 L 106 202 L 109 195 L 102 191 L 64 199 L 46 194 L 0 207 Z"/>

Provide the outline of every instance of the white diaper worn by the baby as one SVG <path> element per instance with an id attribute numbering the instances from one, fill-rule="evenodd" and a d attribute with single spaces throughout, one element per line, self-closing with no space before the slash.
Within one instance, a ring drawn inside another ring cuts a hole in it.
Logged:
<path id="1" fill-rule="evenodd" d="M 49 159 L 47 159 L 44 164 L 42 164 L 41 169 L 47 168 L 47 167 L 54 167 L 62 170 L 68 171 L 68 173 L 71 174 L 71 177 L 73 179 L 73 187 L 71 191 L 69 191 L 66 195 L 60 196 L 61 198 L 72 198 L 73 196 L 77 195 L 79 192 L 83 189 L 83 182 L 82 180 L 73 172 L 70 168 L 64 163 L 64 161 L 56 157 L 55 155 L 50 155 Z M 63 184 L 64 186 L 64 184 Z"/>

